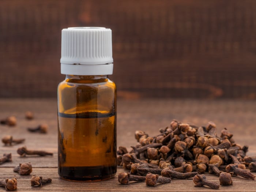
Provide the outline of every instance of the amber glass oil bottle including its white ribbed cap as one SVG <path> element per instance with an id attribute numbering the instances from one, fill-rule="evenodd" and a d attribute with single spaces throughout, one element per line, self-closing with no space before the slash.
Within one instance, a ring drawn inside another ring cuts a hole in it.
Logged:
<path id="1" fill-rule="evenodd" d="M 116 85 L 112 31 L 104 27 L 62 30 L 58 86 L 58 172 L 72 181 L 114 177 Z"/>

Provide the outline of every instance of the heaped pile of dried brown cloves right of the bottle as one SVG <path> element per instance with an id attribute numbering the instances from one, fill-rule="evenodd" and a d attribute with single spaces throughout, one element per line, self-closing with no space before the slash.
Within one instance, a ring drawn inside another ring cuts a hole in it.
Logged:
<path id="1" fill-rule="evenodd" d="M 214 189 L 218 189 L 219 184 L 232 185 L 231 176 L 255 179 L 251 172 L 256 172 L 256 157 L 246 156 L 248 146 L 237 144 L 226 128 L 221 131 L 221 136 L 217 136 L 216 125 L 211 121 L 206 126 L 197 127 L 173 120 L 169 127 L 159 131 L 159 135 L 153 137 L 144 131 L 136 131 L 138 143 L 131 146 L 131 151 L 119 147 L 118 166 L 131 170 L 126 175 L 125 184 L 131 180 L 145 181 L 149 173 L 170 179 L 193 177 L 195 187 L 207 185 Z M 208 181 L 203 175 L 206 172 L 218 176 L 219 184 Z M 154 181 L 146 183 L 156 186 L 160 177 L 151 175 L 149 178 Z"/>

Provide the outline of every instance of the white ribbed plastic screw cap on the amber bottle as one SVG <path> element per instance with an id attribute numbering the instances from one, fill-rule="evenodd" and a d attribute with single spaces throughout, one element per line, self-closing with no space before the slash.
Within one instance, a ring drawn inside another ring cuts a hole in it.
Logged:
<path id="1" fill-rule="evenodd" d="M 111 75 L 112 34 L 105 27 L 69 27 L 61 33 L 61 74 Z"/>

